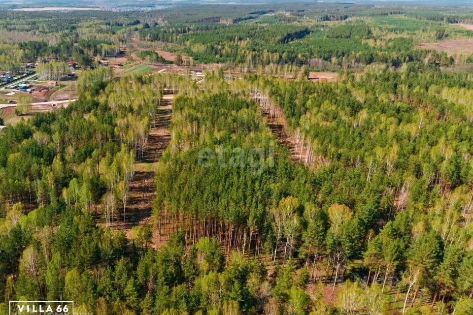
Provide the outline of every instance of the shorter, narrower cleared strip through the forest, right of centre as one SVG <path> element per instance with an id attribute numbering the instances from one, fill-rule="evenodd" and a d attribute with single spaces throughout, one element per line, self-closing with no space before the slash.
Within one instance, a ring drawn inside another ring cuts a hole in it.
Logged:
<path id="1" fill-rule="evenodd" d="M 281 107 L 271 102 L 268 95 L 254 93 L 253 99 L 260 104 L 261 114 L 279 144 L 289 149 L 293 162 L 304 163 L 306 167 L 314 171 L 317 171 L 321 166 L 330 164 L 329 159 L 314 152 L 314 148 L 306 139 L 304 132 L 301 132 L 299 128 L 295 131 L 289 128 Z"/>

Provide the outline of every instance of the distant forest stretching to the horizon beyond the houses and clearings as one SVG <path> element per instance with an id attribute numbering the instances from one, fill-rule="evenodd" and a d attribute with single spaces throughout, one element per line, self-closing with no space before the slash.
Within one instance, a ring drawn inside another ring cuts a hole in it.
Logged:
<path id="1" fill-rule="evenodd" d="M 0 18 L 0 69 L 19 71 L 22 63 L 51 56 L 94 67 L 97 58 L 116 57 L 136 46 L 159 47 L 185 54 L 193 63 L 226 63 L 244 71 L 284 65 L 329 70 L 372 63 L 398 67 L 426 59 L 442 66 L 455 60 L 472 62 L 468 52 L 452 56 L 416 47 L 425 41 L 472 36 L 473 31 L 456 26 L 472 22 L 456 6 L 295 3 L 264 10 L 251 5 L 232 10 L 218 5 L 177 6 L 122 14 L 67 12 L 58 22 L 54 12 L 5 11 Z M 146 57 L 165 61 L 151 53 L 141 56 Z"/>

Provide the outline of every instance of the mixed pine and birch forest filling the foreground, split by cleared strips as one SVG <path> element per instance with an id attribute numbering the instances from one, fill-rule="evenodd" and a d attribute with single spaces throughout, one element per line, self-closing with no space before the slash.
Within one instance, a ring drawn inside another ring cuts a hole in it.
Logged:
<path id="1" fill-rule="evenodd" d="M 428 87 L 470 90 L 471 79 L 417 70 L 333 84 L 208 73 L 201 93 L 190 85 L 173 101 L 155 233 L 133 242 L 109 228 L 127 220 L 122 194 L 150 126 L 140 120 L 181 79 L 86 72 L 77 102 L 1 135 L 4 296 L 66 296 L 96 314 L 353 314 L 351 299 L 356 314 L 387 314 L 414 310 L 422 292 L 469 312 L 471 117 Z M 324 159 L 291 162 L 255 87 Z M 168 240 L 158 251 L 156 233 Z M 308 283 L 332 283 L 340 301 L 310 297 Z"/>

